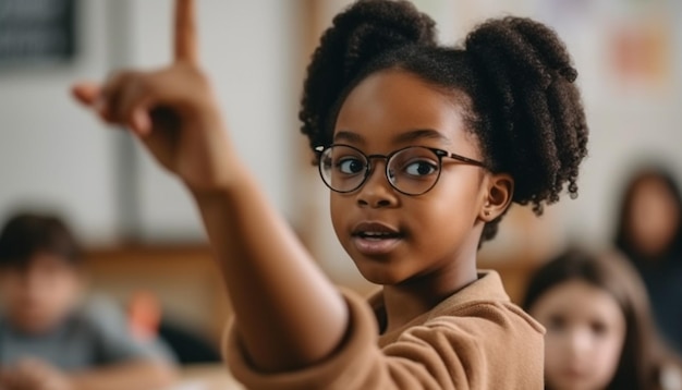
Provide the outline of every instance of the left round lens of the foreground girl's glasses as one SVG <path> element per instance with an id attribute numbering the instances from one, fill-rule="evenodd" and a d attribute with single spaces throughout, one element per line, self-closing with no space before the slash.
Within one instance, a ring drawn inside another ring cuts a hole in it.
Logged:
<path id="1" fill-rule="evenodd" d="M 349 146 L 332 146 L 320 156 L 319 173 L 325 184 L 333 191 L 355 191 L 365 181 L 367 157 Z"/>

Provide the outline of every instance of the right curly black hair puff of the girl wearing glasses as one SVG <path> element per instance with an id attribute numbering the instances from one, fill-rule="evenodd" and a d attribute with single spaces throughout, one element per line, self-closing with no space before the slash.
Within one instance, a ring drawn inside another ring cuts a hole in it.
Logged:
<path id="1" fill-rule="evenodd" d="M 539 212 L 567 183 L 575 196 L 587 126 L 563 41 L 541 23 L 508 16 L 475 28 L 465 49 L 498 118 L 494 155 L 516 178 L 514 200 Z"/>

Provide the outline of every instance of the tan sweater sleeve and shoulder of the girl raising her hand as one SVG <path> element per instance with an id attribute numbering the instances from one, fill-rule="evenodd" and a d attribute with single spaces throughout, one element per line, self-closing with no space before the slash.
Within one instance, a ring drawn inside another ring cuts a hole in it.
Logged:
<path id="1" fill-rule="evenodd" d="M 442 317 L 412 327 L 395 342 L 379 349 L 376 319 L 366 302 L 352 292 L 344 291 L 343 295 L 351 314 L 344 342 L 324 362 L 305 369 L 257 371 L 249 365 L 236 329 L 231 326 L 224 352 L 234 377 L 254 390 L 543 388 L 543 355 L 537 353 L 543 348 L 541 333 L 531 344 L 516 346 L 514 356 L 500 358 L 500 351 L 508 352 L 502 350 L 506 346 L 501 339 L 513 341 L 508 338 L 514 338 L 514 326 L 495 308 L 483 308 L 487 312 L 484 317 L 488 317 L 483 320 L 474 309 L 476 320 L 455 322 L 449 320 L 451 317 Z M 495 345 L 495 351 L 482 342 Z M 516 363 L 508 366 L 509 361 Z M 515 367 L 519 364 L 521 367 Z"/>

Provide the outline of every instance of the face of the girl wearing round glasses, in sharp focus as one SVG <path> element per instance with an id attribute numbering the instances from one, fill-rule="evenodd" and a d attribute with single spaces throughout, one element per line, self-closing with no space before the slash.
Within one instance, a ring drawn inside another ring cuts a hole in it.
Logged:
<path id="1" fill-rule="evenodd" d="M 482 159 L 453 99 L 395 70 L 373 74 L 351 92 L 340 109 L 333 143 L 367 156 L 426 146 Z M 334 231 L 363 276 L 378 284 L 399 284 L 447 280 L 460 275 L 461 267 L 473 267 L 488 171 L 443 158 L 436 185 L 410 196 L 391 187 L 386 160 L 370 162 L 373 171 L 363 186 L 330 195 Z"/>

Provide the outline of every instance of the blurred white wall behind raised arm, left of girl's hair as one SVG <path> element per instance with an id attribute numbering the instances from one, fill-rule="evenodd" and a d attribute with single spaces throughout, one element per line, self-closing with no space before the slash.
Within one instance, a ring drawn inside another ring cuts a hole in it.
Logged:
<path id="1" fill-rule="evenodd" d="M 131 229 L 147 241 L 204 237 L 179 183 L 68 95 L 74 80 L 167 63 L 172 3 L 80 1 L 83 45 L 75 63 L 0 69 L 0 217 L 21 205 L 47 205 L 89 243 L 114 241 Z M 202 57 L 232 137 L 271 200 L 288 214 L 288 151 L 299 94 L 290 76 L 295 14 L 279 0 L 197 3 Z M 132 151 L 121 154 L 126 147 Z M 137 169 L 121 172 L 131 161 Z M 121 178 L 132 186 L 121 188 Z"/>

